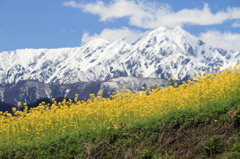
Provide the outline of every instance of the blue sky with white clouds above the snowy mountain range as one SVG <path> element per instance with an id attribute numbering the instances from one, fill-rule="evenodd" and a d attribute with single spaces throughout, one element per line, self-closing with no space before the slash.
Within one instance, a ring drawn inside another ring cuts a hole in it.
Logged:
<path id="1" fill-rule="evenodd" d="M 79 47 L 162 25 L 240 51 L 240 0 L 0 0 L 0 52 Z"/>

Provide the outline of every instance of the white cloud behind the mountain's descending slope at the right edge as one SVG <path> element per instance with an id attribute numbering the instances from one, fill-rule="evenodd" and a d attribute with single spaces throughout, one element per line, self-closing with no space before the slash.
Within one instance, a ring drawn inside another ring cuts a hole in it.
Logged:
<path id="1" fill-rule="evenodd" d="M 209 30 L 201 33 L 199 38 L 208 44 L 222 49 L 240 51 L 240 34 L 237 33 L 221 33 L 220 31 Z"/>

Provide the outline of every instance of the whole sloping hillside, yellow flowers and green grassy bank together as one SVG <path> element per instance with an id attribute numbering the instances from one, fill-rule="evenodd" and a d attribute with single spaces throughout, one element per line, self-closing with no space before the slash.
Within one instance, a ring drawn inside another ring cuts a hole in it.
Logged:
<path id="1" fill-rule="evenodd" d="M 1 158 L 238 158 L 240 68 L 2 113 Z M 220 69 L 219 67 L 217 69 Z M 198 79 L 198 80 L 196 80 Z"/>

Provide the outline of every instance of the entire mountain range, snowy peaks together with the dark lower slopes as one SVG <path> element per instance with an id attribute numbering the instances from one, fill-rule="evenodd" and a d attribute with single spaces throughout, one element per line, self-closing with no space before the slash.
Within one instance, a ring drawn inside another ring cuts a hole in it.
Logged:
<path id="1" fill-rule="evenodd" d="M 76 93 L 86 99 L 100 89 L 107 96 L 123 86 L 142 90 L 238 61 L 240 52 L 211 46 L 180 27 L 159 27 L 111 42 L 97 39 L 76 48 L 1 52 L 0 99 L 16 104 Z"/>

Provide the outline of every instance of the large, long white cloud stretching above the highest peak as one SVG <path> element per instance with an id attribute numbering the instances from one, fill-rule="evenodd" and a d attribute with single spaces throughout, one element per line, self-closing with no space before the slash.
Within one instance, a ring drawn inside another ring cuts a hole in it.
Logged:
<path id="1" fill-rule="evenodd" d="M 65 6 L 80 8 L 83 12 L 100 16 L 100 21 L 112 21 L 127 17 L 129 24 L 142 28 L 158 28 L 166 26 L 212 25 L 222 24 L 229 19 L 240 19 L 240 7 L 228 7 L 225 11 L 211 12 L 207 3 L 202 9 L 182 9 L 173 11 L 171 6 L 159 2 L 145 0 L 113 0 L 109 4 L 102 1 L 93 3 L 76 3 L 69 1 Z"/>

